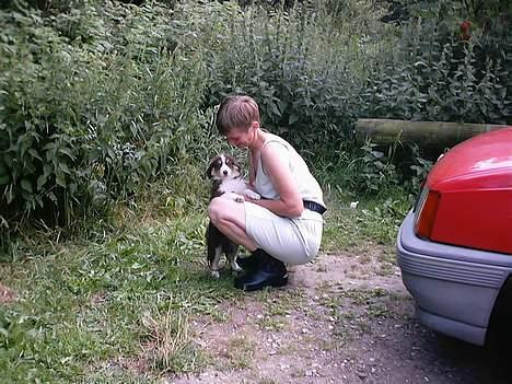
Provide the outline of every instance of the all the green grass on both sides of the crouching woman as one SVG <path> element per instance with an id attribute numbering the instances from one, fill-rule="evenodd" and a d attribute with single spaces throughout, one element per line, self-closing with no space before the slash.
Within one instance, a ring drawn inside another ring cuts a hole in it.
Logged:
<path id="1" fill-rule="evenodd" d="M 327 252 L 392 244 L 406 211 L 398 197 L 362 201 L 357 210 L 330 200 Z M 0 281 L 16 295 L 0 306 L 0 383 L 151 383 L 206 365 L 191 321 L 223 321 L 220 304 L 243 293 L 229 271 L 209 277 L 203 211 L 146 213 L 142 207 L 118 214 L 115 230 L 90 240 L 59 240 L 55 232 L 20 241 L 14 261 L 0 264 Z M 279 328 L 301 301 L 296 291 L 257 298 L 277 315 L 263 318 L 264 328 Z"/>

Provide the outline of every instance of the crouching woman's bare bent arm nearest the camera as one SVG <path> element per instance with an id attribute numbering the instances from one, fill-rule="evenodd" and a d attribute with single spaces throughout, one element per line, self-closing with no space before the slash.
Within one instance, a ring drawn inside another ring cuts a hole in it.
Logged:
<path id="1" fill-rule="evenodd" d="M 292 177 L 288 159 L 280 155 L 278 146 L 266 146 L 261 151 L 261 164 L 269 176 L 277 193 L 280 196 L 278 200 L 256 200 L 258 206 L 265 207 L 276 214 L 298 218 L 302 214 L 304 206 L 299 195 L 295 181 Z"/>

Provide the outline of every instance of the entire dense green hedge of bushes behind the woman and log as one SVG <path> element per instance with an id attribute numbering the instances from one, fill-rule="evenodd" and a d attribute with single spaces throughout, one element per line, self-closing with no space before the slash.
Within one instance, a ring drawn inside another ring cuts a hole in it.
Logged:
<path id="1" fill-rule="evenodd" d="M 402 183 L 402 170 L 371 143 L 354 148 L 358 116 L 510 116 L 503 25 L 462 42 L 439 7 L 407 10 L 420 19 L 404 22 L 395 49 L 399 26 L 370 0 L 21 3 L 0 10 L 2 230 L 69 225 L 154 190 L 168 214 L 201 201 L 203 164 L 225 146 L 212 116 L 231 93 L 253 95 L 264 126 L 323 182 L 366 193 Z"/>

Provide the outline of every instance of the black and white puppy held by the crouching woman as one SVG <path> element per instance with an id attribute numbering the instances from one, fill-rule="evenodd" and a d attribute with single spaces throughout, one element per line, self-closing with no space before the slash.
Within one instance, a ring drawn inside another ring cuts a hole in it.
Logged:
<path id="1" fill-rule="evenodd" d="M 221 197 L 243 202 L 244 195 L 254 200 L 260 198 L 258 194 L 248 188 L 238 163 L 229 154 L 221 153 L 210 161 L 207 177 L 211 182 L 210 201 L 214 197 Z M 219 263 L 222 254 L 228 258 L 233 272 L 242 271 L 242 268 L 236 264 L 238 245 L 220 232 L 211 221 L 208 223 L 206 240 L 208 267 L 212 277 L 219 277 Z"/>

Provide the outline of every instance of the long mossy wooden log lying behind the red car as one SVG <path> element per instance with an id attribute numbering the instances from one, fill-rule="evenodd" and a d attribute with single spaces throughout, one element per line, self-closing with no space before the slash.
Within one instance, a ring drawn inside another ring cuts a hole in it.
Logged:
<path id="1" fill-rule="evenodd" d="M 416 143 L 420 148 L 443 150 L 478 133 L 505 127 L 491 124 L 362 118 L 356 123 L 356 139 L 359 142 L 370 139 L 380 146 L 392 144 L 398 140 L 403 143 Z"/>

